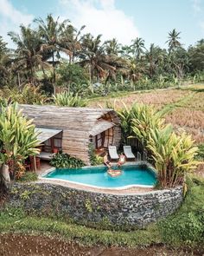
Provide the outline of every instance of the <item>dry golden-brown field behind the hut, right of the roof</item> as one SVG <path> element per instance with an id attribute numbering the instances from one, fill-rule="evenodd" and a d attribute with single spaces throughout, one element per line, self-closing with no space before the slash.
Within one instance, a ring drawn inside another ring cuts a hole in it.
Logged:
<path id="1" fill-rule="evenodd" d="M 131 93 L 116 98 L 104 97 L 90 102 L 90 107 L 131 106 L 133 103 L 152 105 L 163 113 L 175 129 L 191 134 L 197 144 L 204 143 L 204 85 L 182 89 L 163 89 L 144 93 Z"/>

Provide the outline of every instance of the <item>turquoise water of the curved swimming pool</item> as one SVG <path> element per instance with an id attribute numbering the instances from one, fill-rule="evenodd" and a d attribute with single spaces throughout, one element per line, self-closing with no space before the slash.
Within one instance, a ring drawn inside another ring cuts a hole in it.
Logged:
<path id="1" fill-rule="evenodd" d="M 122 174 L 114 178 L 107 174 L 107 167 L 56 169 L 44 178 L 73 181 L 96 187 L 153 186 L 156 183 L 156 174 L 153 171 L 148 167 L 138 166 L 123 166 Z"/>

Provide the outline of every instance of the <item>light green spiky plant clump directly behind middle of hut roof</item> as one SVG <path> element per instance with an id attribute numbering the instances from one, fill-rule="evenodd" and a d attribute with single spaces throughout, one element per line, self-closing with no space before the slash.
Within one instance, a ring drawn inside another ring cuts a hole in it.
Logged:
<path id="1" fill-rule="evenodd" d="M 73 93 L 63 92 L 54 95 L 53 98 L 54 104 L 57 106 L 86 107 L 87 105 L 87 101 L 82 99 L 78 94 L 73 95 Z"/>

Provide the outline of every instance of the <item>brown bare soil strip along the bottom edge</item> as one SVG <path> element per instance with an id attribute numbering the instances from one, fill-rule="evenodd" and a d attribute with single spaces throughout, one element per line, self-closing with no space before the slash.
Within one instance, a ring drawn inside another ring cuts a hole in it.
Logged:
<path id="1" fill-rule="evenodd" d="M 147 248 L 121 248 L 105 246 L 80 246 L 56 238 L 29 236 L 21 234 L 0 234 L 0 256 L 186 256 L 204 255 L 201 252 L 187 252 L 184 250 L 170 250 L 164 246 L 150 246 Z"/>

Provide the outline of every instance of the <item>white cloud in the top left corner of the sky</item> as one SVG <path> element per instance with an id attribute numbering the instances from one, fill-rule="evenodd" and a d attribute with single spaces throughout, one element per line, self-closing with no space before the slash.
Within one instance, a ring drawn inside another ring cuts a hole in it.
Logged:
<path id="1" fill-rule="evenodd" d="M 9 47 L 13 47 L 7 33 L 9 31 L 19 32 L 19 25 L 28 25 L 34 16 L 16 10 L 9 0 L 0 0 L 0 6 L 0 36 L 3 36 L 4 41 L 9 43 Z"/>

